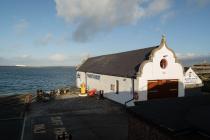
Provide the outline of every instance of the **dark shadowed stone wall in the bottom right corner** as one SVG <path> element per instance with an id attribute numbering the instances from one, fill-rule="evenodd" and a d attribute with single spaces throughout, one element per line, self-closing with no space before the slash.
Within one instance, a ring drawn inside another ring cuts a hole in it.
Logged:
<path id="1" fill-rule="evenodd" d="M 195 131 L 175 133 L 131 113 L 128 117 L 128 140 L 209 140 Z"/>

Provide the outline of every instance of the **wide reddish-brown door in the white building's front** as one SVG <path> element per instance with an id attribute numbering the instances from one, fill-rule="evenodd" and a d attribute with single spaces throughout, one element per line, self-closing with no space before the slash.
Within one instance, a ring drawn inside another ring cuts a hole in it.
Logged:
<path id="1" fill-rule="evenodd" d="M 148 99 L 178 96 L 178 80 L 149 80 Z"/>

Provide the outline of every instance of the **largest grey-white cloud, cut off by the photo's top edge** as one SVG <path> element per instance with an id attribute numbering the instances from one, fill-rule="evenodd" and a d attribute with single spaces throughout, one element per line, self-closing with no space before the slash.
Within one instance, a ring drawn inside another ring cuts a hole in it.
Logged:
<path id="1" fill-rule="evenodd" d="M 73 39 L 85 42 L 99 32 L 135 24 L 170 8 L 171 0 L 55 0 L 57 15 L 75 24 Z"/>

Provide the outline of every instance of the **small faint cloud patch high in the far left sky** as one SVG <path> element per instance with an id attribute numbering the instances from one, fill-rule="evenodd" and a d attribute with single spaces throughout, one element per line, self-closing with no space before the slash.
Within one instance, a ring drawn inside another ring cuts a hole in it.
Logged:
<path id="1" fill-rule="evenodd" d="M 18 35 L 22 35 L 27 30 L 28 26 L 29 26 L 29 22 L 26 19 L 21 19 L 14 26 L 15 32 Z"/>

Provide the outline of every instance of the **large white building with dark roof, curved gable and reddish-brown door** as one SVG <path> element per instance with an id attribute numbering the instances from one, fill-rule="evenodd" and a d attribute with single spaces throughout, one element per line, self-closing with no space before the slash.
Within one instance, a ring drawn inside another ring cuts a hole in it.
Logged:
<path id="1" fill-rule="evenodd" d="M 104 91 L 104 97 L 126 105 L 157 98 L 183 97 L 183 67 L 165 37 L 150 48 L 87 59 L 77 69 L 77 87 Z"/>

